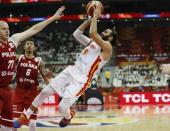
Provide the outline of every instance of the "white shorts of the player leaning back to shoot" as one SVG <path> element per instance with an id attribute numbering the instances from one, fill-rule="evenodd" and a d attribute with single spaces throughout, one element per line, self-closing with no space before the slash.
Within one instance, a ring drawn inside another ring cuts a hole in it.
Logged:
<path id="1" fill-rule="evenodd" d="M 76 72 L 76 73 L 75 73 Z M 71 74 L 72 73 L 72 74 Z M 76 77 L 73 77 L 76 76 Z M 80 80 L 76 78 L 80 78 Z M 76 68 L 67 67 L 58 76 L 51 80 L 50 86 L 63 98 L 73 98 L 84 87 L 86 80 L 81 79 L 81 74 L 77 73 Z"/>

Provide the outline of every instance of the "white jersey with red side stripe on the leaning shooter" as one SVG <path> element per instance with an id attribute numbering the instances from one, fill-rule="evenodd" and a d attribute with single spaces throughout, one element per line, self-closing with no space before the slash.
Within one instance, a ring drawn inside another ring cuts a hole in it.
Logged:
<path id="1" fill-rule="evenodd" d="M 107 63 L 101 57 L 101 48 L 91 42 L 78 56 L 75 65 L 68 67 L 71 76 L 88 86 L 93 76 Z"/>

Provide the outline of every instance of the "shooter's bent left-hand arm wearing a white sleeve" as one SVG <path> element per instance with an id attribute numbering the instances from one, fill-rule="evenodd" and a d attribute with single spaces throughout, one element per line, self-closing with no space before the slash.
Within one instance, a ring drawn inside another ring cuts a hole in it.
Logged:
<path id="1" fill-rule="evenodd" d="M 84 30 L 90 26 L 91 19 L 84 21 L 73 33 L 74 38 L 78 40 L 83 45 L 88 45 L 90 43 L 90 39 L 83 35 Z"/>

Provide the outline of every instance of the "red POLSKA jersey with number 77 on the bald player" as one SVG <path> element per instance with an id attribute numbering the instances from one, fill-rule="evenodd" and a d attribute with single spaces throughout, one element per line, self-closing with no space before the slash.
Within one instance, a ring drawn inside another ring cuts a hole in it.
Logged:
<path id="1" fill-rule="evenodd" d="M 8 86 L 15 73 L 16 45 L 9 39 L 8 43 L 0 42 L 0 86 Z"/>

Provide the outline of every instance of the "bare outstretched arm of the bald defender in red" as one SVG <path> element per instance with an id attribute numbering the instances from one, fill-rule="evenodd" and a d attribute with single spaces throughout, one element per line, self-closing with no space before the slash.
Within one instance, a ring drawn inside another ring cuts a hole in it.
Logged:
<path id="1" fill-rule="evenodd" d="M 44 29 L 47 25 L 49 25 L 51 22 L 60 19 L 63 16 L 63 11 L 65 10 L 65 6 L 61 6 L 56 13 L 50 17 L 49 19 L 42 21 L 36 25 L 33 25 L 31 28 L 28 30 L 21 32 L 21 33 L 16 33 L 14 34 L 11 38 L 19 45 L 22 41 L 26 40 L 27 38 L 37 34 L 40 32 L 42 29 Z"/>

